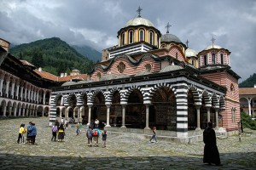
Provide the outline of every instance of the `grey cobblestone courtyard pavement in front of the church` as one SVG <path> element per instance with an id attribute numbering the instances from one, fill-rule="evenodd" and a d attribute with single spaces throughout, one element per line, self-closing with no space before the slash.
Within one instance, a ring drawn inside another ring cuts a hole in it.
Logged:
<path id="1" fill-rule="evenodd" d="M 35 122 L 38 135 L 34 145 L 17 144 L 21 123 Z M 68 127 L 65 142 L 52 142 L 49 119 L 15 118 L 0 120 L 0 169 L 256 169 L 256 132 L 218 139 L 224 166 L 202 163 L 202 142 L 177 144 L 167 141 L 148 143 L 129 135 L 108 134 L 107 148 L 87 146 L 85 126 L 76 136 Z M 99 139 L 102 142 L 102 139 Z"/>

